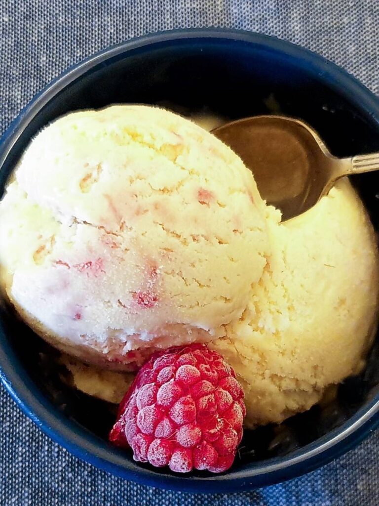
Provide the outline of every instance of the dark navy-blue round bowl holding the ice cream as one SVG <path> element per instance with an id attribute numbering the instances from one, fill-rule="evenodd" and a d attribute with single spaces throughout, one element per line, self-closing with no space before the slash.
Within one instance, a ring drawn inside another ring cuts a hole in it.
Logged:
<path id="1" fill-rule="evenodd" d="M 11 124 L 0 146 L 0 184 L 39 129 L 68 111 L 111 103 L 207 107 L 230 119 L 278 112 L 312 125 L 336 156 L 379 151 L 379 101 L 335 65 L 289 43 L 242 31 L 190 30 L 131 40 L 71 68 Z M 378 229 L 377 175 L 354 178 Z M 35 423 L 75 455 L 117 476 L 162 488 L 232 492 L 269 485 L 323 465 L 379 423 L 378 346 L 365 371 L 337 399 L 282 424 L 246 431 L 222 475 L 175 475 L 135 463 L 107 443 L 112 409 L 60 381 L 54 350 L 4 304 L 0 365 L 4 385 Z"/>

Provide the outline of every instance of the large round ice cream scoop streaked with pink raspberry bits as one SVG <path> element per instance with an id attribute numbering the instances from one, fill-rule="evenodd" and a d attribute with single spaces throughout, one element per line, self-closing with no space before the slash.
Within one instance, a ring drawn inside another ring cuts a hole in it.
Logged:
<path id="1" fill-rule="evenodd" d="M 240 158 L 147 106 L 48 125 L 0 203 L 11 302 L 64 352 L 115 368 L 225 335 L 269 249 L 266 207 Z"/>

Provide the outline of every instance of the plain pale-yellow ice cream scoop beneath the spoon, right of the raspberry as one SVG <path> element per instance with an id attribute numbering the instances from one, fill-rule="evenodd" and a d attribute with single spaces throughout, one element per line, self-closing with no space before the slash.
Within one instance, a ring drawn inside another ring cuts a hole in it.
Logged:
<path id="1" fill-rule="evenodd" d="M 274 227 L 272 243 L 248 308 L 210 344 L 244 387 L 248 427 L 305 411 L 358 373 L 377 324 L 377 241 L 348 180 Z"/>

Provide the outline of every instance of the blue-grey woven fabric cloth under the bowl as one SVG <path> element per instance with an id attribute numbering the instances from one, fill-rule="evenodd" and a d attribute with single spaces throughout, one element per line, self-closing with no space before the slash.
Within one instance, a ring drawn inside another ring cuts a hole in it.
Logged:
<path id="1" fill-rule="evenodd" d="M 229 27 L 305 46 L 379 93 L 378 0 L 2 0 L 0 134 L 32 96 L 86 56 L 149 32 Z M 376 506 L 379 431 L 326 467 L 250 493 L 191 495 L 110 476 L 71 456 L 0 388 L 0 506 Z"/>

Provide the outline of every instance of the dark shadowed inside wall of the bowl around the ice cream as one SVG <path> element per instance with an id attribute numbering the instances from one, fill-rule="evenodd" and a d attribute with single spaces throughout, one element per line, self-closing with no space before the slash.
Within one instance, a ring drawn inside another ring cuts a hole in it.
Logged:
<path id="1" fill-rule="evenodd" d="M 62 85 L 62 86 L 61 86 Z M 36 107 L 16 142 L 1 153 L 4 183 L 23 149 L 39 129 L 76 109 L 101 108 L 113 103 L 175 104 L 178 111 L 207 110 L 230 119 L 279 113 L 299 117 L 321 135 L 337 156 L 379 151 L 379 125 L 360 107 L 359 100 L 320 75 L 316 67 L 262 44 L 232 39 L 177 39 L 119 51 L 103 61 L 82 67 L 66 78 L 43 107 Z M 377 176 L 354 178 L 376 230 Z M 4 343 L 16 356 L 19 374 L 31 378 L 53 410 L 63 412 L 78 427 L 99 437 L 100 445 L 114 420 L 106 403 L 73 392 L 60 381 L 52 350 L 30 329 L 2 308 Z M 22 336 L 22 338 L 20 338 Z M 4 344 L 3 343 L 3 344 Z M 379 389 L 378 346 L 374 345 L 365 371 L 339 386 L 327 407 L 314 407 L 287 420 L 279 428 L 246 431 L 232 470 L 246 470 L 272 457 L 285 456 L 316 442 L 341 427 L 364 407 Z M 109 446 L 109 454 L 119 450 Z M 121 454 L 125 462 L 128 453 Z M 155 470 L 157 474 L 169 474 Z M 193 476 L 197 476 L 194 474 Z M 199 477 L 205 476 L 199 473 Z"/>

